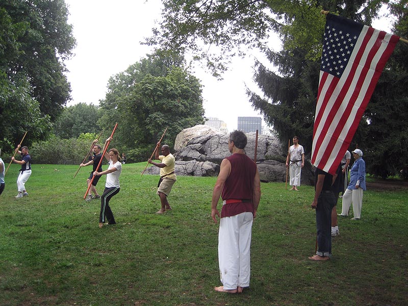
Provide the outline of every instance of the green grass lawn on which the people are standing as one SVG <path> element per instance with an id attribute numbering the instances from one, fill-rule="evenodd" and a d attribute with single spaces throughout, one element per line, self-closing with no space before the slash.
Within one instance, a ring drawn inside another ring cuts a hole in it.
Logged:
<path id="1" fill-rule="evenodd" d="M 408 303 L 407 189 L 367 190 L 362 220 L 339 219 L 333 258 L 313 262 L 313 187 L 294 192 L 262 183 L 250 289 L 228 295 L 213 290 L 221 285 L 218 224 L 210 216 L 216 177 L 179 176 L 169 196 L 173 210 L 156 215 L 159 176 L 141 177 L 145 165 L 123 165 L 110 203 L 117 224 L 101 229 L 100 201 L 83 200 L 91 167 L 72 179 L 78 166 L 33 165 L 29 196 L 15 199 L 19 165 L 11 165 L 0 196 L 0 304 Z"/>

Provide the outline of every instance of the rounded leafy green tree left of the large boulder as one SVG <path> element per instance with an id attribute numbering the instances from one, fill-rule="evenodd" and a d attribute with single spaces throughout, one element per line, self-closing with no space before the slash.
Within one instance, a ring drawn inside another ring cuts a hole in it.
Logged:
<path id="1" fill-rule="evenodd" d="M 130 161 L 147 159 L 166 126 L 163 143 L 171 145 L 183 129 L 203 123 L 199 80 L 183 58 L 161 50 L 112 77 L 100 105 L 100 126 L 110 131 L 118 122 L 115 143 Z"/>

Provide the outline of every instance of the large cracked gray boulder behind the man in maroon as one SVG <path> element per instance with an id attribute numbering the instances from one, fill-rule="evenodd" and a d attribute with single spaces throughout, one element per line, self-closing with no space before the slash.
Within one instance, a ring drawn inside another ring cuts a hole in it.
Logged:
<path id="1" fill-rule="evenodd" d="M 247 133 L 245 154 L 254 159 L 256 133 Z M 177 175 L 217 176 L 221 161 L 230 156 L 229 135 L 218 132 L 208 125 L 196 125 L 177 135 L 174 142 L 175 173 Z M 258 135 L 257 166 L 262 182 L 286 181 L 286 151 L 274 136 Z M 147 169 L 149 174 L 159 174 L 158 167 Z M 288 178 L 289 181 L 289 178 Z M 313 185 L 314 171 L 306 162 L 302 169 L 300 184 Z"/>

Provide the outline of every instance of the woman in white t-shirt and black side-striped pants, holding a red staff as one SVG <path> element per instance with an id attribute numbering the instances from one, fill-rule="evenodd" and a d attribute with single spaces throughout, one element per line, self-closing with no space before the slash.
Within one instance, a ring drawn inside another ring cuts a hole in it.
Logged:
<path id="1" fill-rule="evenodd" d="M 106 140 L 105 145 L 110 139 L 112 138 L 109 137 Z M 108 220 L 108 224 L 116 224 L 112 210 L 109 207 L 109 201 L 115 194 L 119 193 L 119 176 L 122 172 L 122 164 L 117 149 L 112 148 L 109 152 L 105 152 L 105 158 L 109 161 L 108 170 L 94 172 L 95 175 L 107 174 L 104 194 L 100 197 L 99 227 L 104 226 L 105 219 Z"/>

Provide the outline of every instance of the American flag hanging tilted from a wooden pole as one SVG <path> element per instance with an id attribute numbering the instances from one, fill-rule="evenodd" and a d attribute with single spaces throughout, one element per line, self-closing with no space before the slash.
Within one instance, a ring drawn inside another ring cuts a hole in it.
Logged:
<path id="1" fill-rule="evenodd" d="M 399 37 L 327 14 L 312 164 L 335 174 Z"/>

